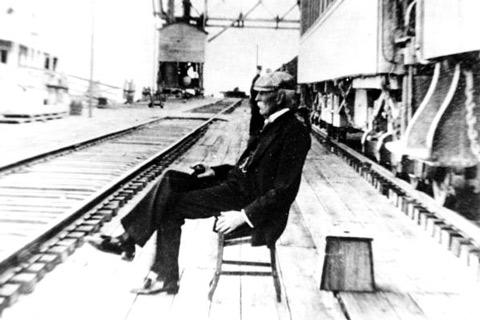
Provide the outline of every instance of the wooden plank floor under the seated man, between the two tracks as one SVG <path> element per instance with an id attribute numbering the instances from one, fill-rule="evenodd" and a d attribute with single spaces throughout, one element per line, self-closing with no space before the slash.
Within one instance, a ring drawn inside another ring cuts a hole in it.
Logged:
<path id="1" fill-rule="evenodd" d="M 245 146 L 246 136 L 237 133 L 248 131 L 248 117 L 246 108 L 236 110 L 231 121 L 214 125 L 174 167 L 233 163 Z M 2 319 L 480 319 L 474 275 L 396 210 L 314 141 L 289 224 L 277 244 L 281 303 L 271 278 L 247 276 L 222 276 L 209 303 L 216 235 L 207 219 L 183 227 L 175 296 L 130 293 L 148 271 L 155 239 L 131 263 L 84 245 L 47 274 L 33 294 L 6 309 Z M 118 230 L 116 219 L 103 231 Z M 324 239 L 339 230 L 361 230 L 374 239 L 378 292 L 334 295 L 319 290 Z M 266 261 L 268 251 L 245 245 L 227 248 L 225 256 Z"/>

